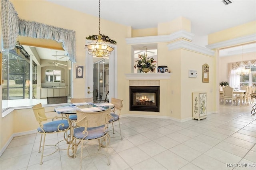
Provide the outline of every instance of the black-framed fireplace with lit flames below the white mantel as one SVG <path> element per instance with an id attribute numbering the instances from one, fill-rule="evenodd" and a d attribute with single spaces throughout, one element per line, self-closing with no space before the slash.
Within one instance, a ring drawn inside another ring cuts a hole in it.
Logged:
<path id="1" fill-rule="evenodd" d="M 159 112 L 159 86 L 130 86 L 130 111 Z"/>

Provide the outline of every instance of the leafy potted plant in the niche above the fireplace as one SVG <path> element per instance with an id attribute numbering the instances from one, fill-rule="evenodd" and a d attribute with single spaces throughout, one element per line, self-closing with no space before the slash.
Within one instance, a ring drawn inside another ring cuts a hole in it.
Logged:
<path id="1" fill-rule="evenodd" d="M 138 61 L 138 64 L 137 64 L 137 68 L 140 70 L 140 73 L 141 72 L 144 72 L 144 73 L 148 73 L 148 71 L 154 71 L 154 69 L 156 68 L 156 61 L 154 61 L 154 58 L 153 57 L 148 57 L 147 55 L 147 49 L 146 49 L 146 54 L 139 54 L 139 60 Z M 137 62 L 136 61 L 136 62 Z M 136 65 L 134 65 L 134 68 L 136 68 Z"/>

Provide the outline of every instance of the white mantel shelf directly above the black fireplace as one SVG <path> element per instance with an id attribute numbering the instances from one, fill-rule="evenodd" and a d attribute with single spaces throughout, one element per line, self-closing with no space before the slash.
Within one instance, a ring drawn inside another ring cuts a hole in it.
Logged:
<path id="1" fill-rule="evenodd" d="M 128 73 L 127 80 L 170 80 L 172 73 Z"/>

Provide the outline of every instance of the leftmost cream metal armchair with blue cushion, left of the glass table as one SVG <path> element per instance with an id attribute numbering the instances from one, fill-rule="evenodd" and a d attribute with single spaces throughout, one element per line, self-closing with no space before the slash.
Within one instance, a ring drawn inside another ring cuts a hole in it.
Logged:
<path id="1" fill-rule="evenodd" d="M 42 164 L 43 157 L 54 154 L 55 152 L 57 152 L 59 150 L 59 147 L 57 146 L 57 144 L 59 142 L 56 144 L 52 144 L 52 145 L 45 145 L 46 134 L 66 132 L 67 130 L 70 129 L 70 127 L 69 127 L 67 119 L 65 119 L 64 117 L 46 117 L 45 109 L 44 109 L 44 107 L 42 107 L 42 103 L 34 105 L 32 107 L 32 110 L 36 117 L 36 121 L 38 121 L 38 123 L 39 123 L 39 127 L 37 128 L 37 130 L 38 130 L 38 133 L 41 134 L 41 139 L 40 139 L 38 153 L 41 152 L 40 164 Z M 42 124 L 42 122 L 48 121 L 49 119 L 51 119 L 52 121 Z M 60 119 L 60 120 L 58 120 L 58 119 Z M 65 134 L 66 133 L 64 133 L 64 135 Z M 65 138 L 65 136 L 64 136 L 64 138 Z M 54 148 L 56 150 L 48 155 L 44 155 L 44 147 L 45 146 L 54 146 Z M 41 148 L 42 148 L 42 150 L 41 150 Z"/>

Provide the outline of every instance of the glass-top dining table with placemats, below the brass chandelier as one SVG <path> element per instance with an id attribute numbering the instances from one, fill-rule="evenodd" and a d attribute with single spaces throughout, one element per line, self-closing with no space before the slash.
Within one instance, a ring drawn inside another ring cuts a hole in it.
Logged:
<path id="1" fill-rule="evenodd" d="M 61 114 L 68 119 L 68 124 L 70 125 L 70 134 L 69 141 L 67 140 L 68 145 L 68 156 L 70 158 L 75 157 L 75 152 L 77 149 L 78 144 L 74 143 L 74 140 L 71 139 L 73 135 L 73 129 L 76 128 L 76 121 L 70 119 L 70 115 L 76 115 L 76 110 L 79 109 L 84 112 L 98 112 L 98 111 L 104 111 L 109 108 L 114 108 L 114 104 L 112 103 L 91 103 L 91 102 L 82 102 L 82 103 L 68 103 L 64 104 L 59 107 L 55 107 L 54 111 L 58 114 Z M 72 154 L 70 154 L 70 150 L 72 150 Z"/>

